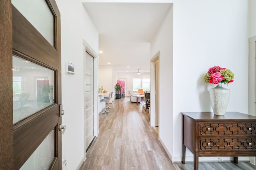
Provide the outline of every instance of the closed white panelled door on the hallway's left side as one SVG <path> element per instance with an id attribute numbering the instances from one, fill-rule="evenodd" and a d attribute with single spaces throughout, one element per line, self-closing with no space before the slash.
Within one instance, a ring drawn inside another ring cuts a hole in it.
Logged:
<path id="1" fill-rule="evenodd" d="M 94 139 L 94 58 L 86 52 L 84 60 L 84 136 L 85 149 L 88 150 Z"/>

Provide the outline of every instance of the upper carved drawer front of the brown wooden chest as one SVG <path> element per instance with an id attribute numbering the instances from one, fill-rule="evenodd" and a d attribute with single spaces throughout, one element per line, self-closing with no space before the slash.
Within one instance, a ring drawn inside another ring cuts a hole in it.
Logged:
<path id="1" fill-rule="evenodd" d="M 256 135 L 256 122 L 199 123 L 200 135 Z"/>

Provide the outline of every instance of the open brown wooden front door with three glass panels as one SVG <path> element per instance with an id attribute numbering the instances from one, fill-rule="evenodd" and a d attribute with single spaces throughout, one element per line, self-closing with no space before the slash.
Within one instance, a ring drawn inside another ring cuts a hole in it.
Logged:
<path id="1" fill-rule="evenodd" d="M 14 169 L 61 169 L 60 12 L 12 0 Z M 38 80 L 41 77 L 41 80 Z"/>

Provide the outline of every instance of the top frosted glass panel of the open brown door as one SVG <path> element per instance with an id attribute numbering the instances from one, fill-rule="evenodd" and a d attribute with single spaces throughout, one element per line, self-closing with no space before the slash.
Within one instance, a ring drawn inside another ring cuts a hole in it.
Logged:
<path id="1" fill-rule="evenodd" d="M 45 0 L 12 0 L 12 4 L 54 46 L 54 16 Z"/>

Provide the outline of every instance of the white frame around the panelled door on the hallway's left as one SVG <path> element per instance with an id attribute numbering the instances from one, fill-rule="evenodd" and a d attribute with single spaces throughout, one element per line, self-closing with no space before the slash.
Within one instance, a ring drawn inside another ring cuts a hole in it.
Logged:
<path id="1" fill-rule="evenodd" d="M 98 115 L 98 53 L 96 53 L 92 47 L 83 39 L 83 60 L 86 59 L 86 52 L 89 53 L 94 58 L 94 136 L 98 137 L 100 133 L 99 130 L 99 115 Z M 84 65 L 83 65 L 84 68 Z M 84 102 L 83 102 L 84 103 Z M 85 106 L 84 106 L 85 109 Z M 85 121 L 84 121 L 85 126 Z M 84 137 L 85 137 L 84 131 Z M 85 138 L 84 138 L 85 139 Z M 86 159 L 86 141 L 84 140 L 84 160 Z"/>

